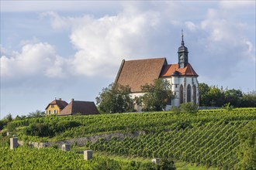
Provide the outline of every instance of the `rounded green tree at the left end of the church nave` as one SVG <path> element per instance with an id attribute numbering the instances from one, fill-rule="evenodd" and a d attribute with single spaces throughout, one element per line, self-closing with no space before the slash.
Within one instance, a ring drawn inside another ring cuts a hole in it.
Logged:
<path id="1" fill-rule="evenodd" d="M 103 88 L 96 97 L 99 110 L 104 113 L 123 113 L 133 111 L 133 100 L 130 97 L 130 87 L 111 83 Z"/>

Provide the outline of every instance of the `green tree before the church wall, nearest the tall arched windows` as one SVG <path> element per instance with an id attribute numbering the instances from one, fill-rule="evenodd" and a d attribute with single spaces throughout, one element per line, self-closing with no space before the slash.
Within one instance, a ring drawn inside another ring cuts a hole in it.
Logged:
<path id="1" fill-rule="evenodd" d="M 144 95 L 139 103 L 146 111 L 164 110 L 168 101 L 171 100 L 171 85 L 167 80 L 156 79 L 153 84 L 145 84 L 141 87 Z"/>

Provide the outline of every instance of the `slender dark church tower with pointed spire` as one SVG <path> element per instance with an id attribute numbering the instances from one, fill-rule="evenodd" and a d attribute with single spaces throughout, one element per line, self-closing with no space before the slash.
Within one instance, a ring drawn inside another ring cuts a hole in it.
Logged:
<path id="1" fill-rule="evenodd" d="M 188 54 L 188 48 L 184 46 L 182 30 L 182 46 L 178 47 L 178 68 L 185 68 L 185 66 L 187 66 L 187 64 L 189 63 Z"/>

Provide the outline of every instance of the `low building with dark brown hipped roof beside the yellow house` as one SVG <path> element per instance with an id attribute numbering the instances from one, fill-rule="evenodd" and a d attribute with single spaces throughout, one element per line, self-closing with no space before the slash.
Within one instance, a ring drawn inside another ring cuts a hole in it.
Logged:
<path id="1" fill-rule="evenodd" d="M 67 106 L 61 110 L 60 114 L 57 114 L 57 116 L 67 116 L 74 114 L 99 114 L 99 110 L 93 101 L 78 101 L 72 99 L 71 103 L 67 104 Z"/>

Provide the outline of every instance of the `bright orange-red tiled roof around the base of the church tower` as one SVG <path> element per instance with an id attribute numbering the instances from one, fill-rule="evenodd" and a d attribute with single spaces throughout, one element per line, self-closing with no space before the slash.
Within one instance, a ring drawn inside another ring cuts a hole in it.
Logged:
<path id="1" fill-rule="evenodd" d="M 178 72 L 178 76 L 199 76 L 195 73 L 195 70 L 192 68 L 190 63 L 185 66 L 185 68 L 178 68 L 178 64 L 169 64 L 163 66 L 160 77 L 164 76 L 172 76 L 172 74 L 176 71 Z"/>

